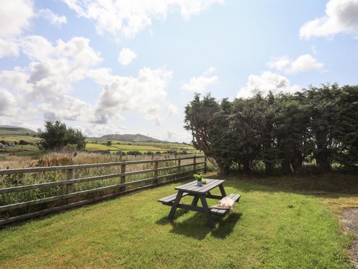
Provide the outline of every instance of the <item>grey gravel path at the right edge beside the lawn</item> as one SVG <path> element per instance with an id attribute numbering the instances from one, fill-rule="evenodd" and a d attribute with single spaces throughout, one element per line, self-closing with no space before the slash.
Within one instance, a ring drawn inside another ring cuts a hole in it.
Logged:
<path id="1" fill-rule="evenodd" d="M 352 244 L 352 263 L 355 268 L 358 268 L 358 208 L 344 210 L 342 222 L 350 232 L 356 235 Z"/>

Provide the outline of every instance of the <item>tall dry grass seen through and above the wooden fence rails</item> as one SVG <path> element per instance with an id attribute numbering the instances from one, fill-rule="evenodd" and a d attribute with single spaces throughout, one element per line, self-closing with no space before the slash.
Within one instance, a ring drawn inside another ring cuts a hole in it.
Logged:
<path id="1" fill-rule="evenodd" d="M 179 155 L 183 157 L 185 155 Z M 188 155 L 193 156 L 193 155 Z M 169 159 L 174 158 L 173 155 L 154 155 L 154 159 Z M 73 152 L 51 152 L 46 153 L 40 156 L 38 159 L 32 159 L 29 156 L 14 156 L 11 154 L 3 154 L 2 159 L 0 160 L 0 168 L 1 169 L 15 169 L 15 168 L 31 168 L 31 167 L 44 167 L 44 166 L 60 166 L 60 165 L 68 165 L 68 164 L 97 164 L 97 163 L 111 163 L 111 162 L 121 162 L 121 161 L 140 161 L 140 160 L 152 160 L 151 155 L 128 155 L 122 156 L 113 155 L 113 154 L 101 154 L 101 153 L 91 153 L 91 152 L 78 152 L 76 156 L 74 156 Z M 203 162 L 204 159 L 198 159 L 197 162 Z M 190 164 L 193 160 L 182 160 L 181 165 Z M 169 167 L 176 166 L 175 161 L 165 161 L 159 162 L 159 168 L 161 167 Z M 203 167 L 203 165 L 198 165 L 197 168 Z M 139 171 L 139 170 L 148 170 L 154 168 L 153 163 L 146 164 L 131 164 L 126 165 L 126 172 L 131 171 Z M 181 171 L 188 171 L 193 169 L 192 166 L 183 167 Z M 159 171 L 158 175 L 166 175 L 172 174 L 176 172 L 176 168 Z M 109 166 L 109 167 L 98 167 L 98 168 L 85 168 L 85 169 L 75 169 L 73 178 L 83 178 L 83 177 L 91 177 L 97 175 L 106 175 L 106 174 L 116 174 L 120 173 L 120 166 Z M 153 172 L 129 175 L 126 176 L 126 182 L 133 182 L 138 180 L 143 180 L 145 178 L 150 178 L 153 176 Z M 166 177 L 164 179 L 159 180 L 159 182 L 171 180 L 173 177 Z M 48 172 L 36 172 L 36 173 L 23 173 L 23 174 L 10 174 L 10 175 L 0 175 L 0 189 L 16 187 L 16 186 L 24 186 L 24 185 L 32 185 L 39 183 L 48 183 L 48 182 L 56 182 L 63 181 L 66 179 L 65 171 L 48 171 Z M 96 189 L 100 187 L 106 187 L 111 185 L 116 185 L 120 183 L 120 178 L 109 178 L 107 180 L 98 180 L 92 182 L 83 182 L 74 184 L 74 192 Z M 127 186 L 127 189 L 138 188 L 144 185 L 150 184 L 148 183 L 140 183 L 131 186 Z M 114 193 L 118 190 L 110 190 L 105 193 L 94 193 L 87 194 L 81 197 L 76 197 L 75 201 L 87 199 L 95 196 L 101 196 L 104 194 Z M 66 186 L 56 186 L 49 188 L 41 188 L 34 190 L 27 190 L 21 192 L 0 194 L 0 206 L 10 205 L 21 203 L 24 201 L 31 201 L 39 198 L 46 198 L 51 196 L 57 196 L 66 193 Z M 18 215 L 33 212 L 36 210 L 46 209 L 50 207 L 54 207 L 60 204 L 63 204 L 63 201 L 56 201 L 48 204 L 30 206 L 24 209 L 5 211 L 0 213 L 0 217 Z"/>

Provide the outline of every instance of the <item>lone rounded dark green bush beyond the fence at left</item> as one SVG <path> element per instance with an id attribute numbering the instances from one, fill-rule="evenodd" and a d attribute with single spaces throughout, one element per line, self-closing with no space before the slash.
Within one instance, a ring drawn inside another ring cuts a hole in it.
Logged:
<path id="1" fill-rule="evenodd" d="M 68 144 L 76 145 L 78 150 L 83 150 L 86 145 L 86 138 L 82 132 L 66 124 L 56 121 L 45 121 L 45 130 L 38 129 L 40 146 L 44 149 L 59 149 Z"/>

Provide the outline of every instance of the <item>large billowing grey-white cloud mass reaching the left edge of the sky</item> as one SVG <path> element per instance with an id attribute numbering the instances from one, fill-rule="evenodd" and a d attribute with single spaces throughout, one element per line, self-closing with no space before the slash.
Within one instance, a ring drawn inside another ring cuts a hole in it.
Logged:
<path id="1" fill-rule="evenodd" d="M 12 97 L 14 107 L 25 115 L 42 115 L 45 119 L 94 118 L 91 105 L 66 94 L 72 90 L 72 83 L 86 78 L 102 60 L 89 47 L 88 39 L 59 39 L 53 44 L 41 36 L 27 36 L 19 46 L 32 61 L 25 68 L 0 72 L 0 85 L 16 93 Z"/>

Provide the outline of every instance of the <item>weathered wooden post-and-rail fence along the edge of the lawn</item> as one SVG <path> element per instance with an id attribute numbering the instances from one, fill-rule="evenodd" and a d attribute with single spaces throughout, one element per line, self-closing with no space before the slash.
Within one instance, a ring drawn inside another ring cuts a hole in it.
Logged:
<path id="1" fill-rule="evenodd" d="M 181 165 L 182 160 L 190 160 L 192 159 L 193 162 L 186 165 Z M 204 159 L 203 162 L 197 162 L 197 159 Z M 168 162 L 168 161 L 176 161 L 176 166 L 168 166 L 168 167 L 161 167 L 158 168 L 158 163 L 160 162 Z M 132 164 L 146 164 L 146 163 L 153 163 L 154 168 L 153 169 L 147 169 L 147 170 L 140 170 L 140 171 L 131 171 L 126 172 L 126 167 L 128 165 Z M 204 165 L 203 167 L 197 168 L 198 165 Z M 99 176 L 93 176 L 93 177 L 86 177 L 86 178 L 73 178 L 74 170 L 75 169 L 83 169 L 83 168 L 98 168 L 98 167 L 108 167 L 108 166 L 120 166 L 121 172 L 117 174 L 107 174 L 107 175 L 99 175 Z M 193 169 L 181 171 L 181 168 L 183 167 L 189 167 L 193 166 Z M 166 174 L 166 175 L 158 175 L 158 171 L 165 171 L 165 170 L 171 170 L 176 169 L 175 173 Z M 0 212 L 8 211 L 8 210 L 14 210 L 14 209 L 20 209 L 20 208 L 26 208 L 32 205 L 39 205 L 44 203 L 49 203 L 52 201 L 63 201 L 64 205 L 48 208 L 28 214 L 23 214 L 19 216 L 13 216 L 8 217 L 5 219 L 0 220 L 0 226 L 6 225 L 11 222 L 24 220 L 27 218 L 40 216 L 43 214 L 64 210 L 68 208 L 78 207 L 84 204 L 93 203 L 95 201 L 108 199 L 111 197 L 115 197 L 124 193 L 129 193 L 132 191 L 138 191 L 141 189 L 161 186 L 164 184 L 181 181 L 185 178 L 188 178 L 192 176 L 193 173 L 198 172 L 200 170 L 204 170 L 206 172 L 207 170 L 207 158 L 205 156 L 190 156 L 190 157 L 184 157 L 184 158 L 171 158 L 171 159 L 158 159 L 158 160 L 144 160 L 144 161 L 129 161 L 129 162 L 116 162 L 116 163 L 101 163 L 101 164 L 83 164 L 83 165 L 65 165 L 65 166 L 51 166 L 51 167 L 36 167 L 36 168 L 21 168 L 21 169 L 7 169 L 7 170 L 0 170 L 0 175 L 9 175 L 9 174 L 19 174 L 19 173 L 34 173 L 34 172 L 46 172 L 46 171 L 66 171 L 66 180 L 64 181 L 56 181 L 56 182 L 49 182 L 49 183 L 39 183 L 39 184 L 33 184 L 33 185 L 25 185 L 25 186 L 16 186 L 11 188 L 4 188 L 0 189 L 0 195 L 11 193 L 11 192 L 21 192 L 26 190 L 33 190 L 33 189 L 39 189 L 39 188 L 47 188 L 47 187 L 55 187 L 55 186 L 66 186 L 66 194 L 52 196 L 52 197 L 46 197 L 31 201 L 25 201 L 23 203 L 17 203 L 17 204 L 11 204 L 11 205 L 5 205 L 0 206 Z M 134 175 L 134 174 L 143 174 L 143 173 L 149 173 L 153 172 L 153 176 L 149 178 L 145 178 L 143 180 L 137 180 L 132 182 L 126 182 L 126 176 L 128 175 Z M 189 173 L 189 174 L 188 174 Z M 188 174 L 188 175 L 186 175 Z M 120 178 L 119 184 L 101 187 L 97 189 L 90 189 L 90 190 L 83 190 L 74 192 L 74 184 L 81 183 L 81 182 L 90 182 L 90 181 L 98 181 L 98 180 L 104 180 L 107 178 Z M 160 179 L 165 179 L 166 177 L 174 177 L 173 180 L 167 180 L 163 182 L 159 182 Z M 136 185 L 136 184 L 142 184 L 142 183 L 148 183 L 151 182 L 151 184 L 141 186 L 138 188 L 133 189 L 126 189 L 126 186 L 130 185 Z M 105 194 L 102 196 L 94 197 L 91 199 L 81 200 L 81 201 L 73 201 L 74 197 L 85 195 L 85 194 L 91 194 L 91 193 L 101 193 L 103 191 L 108 190 L 114 190 L 115 193 L 111 194 Z"/>

